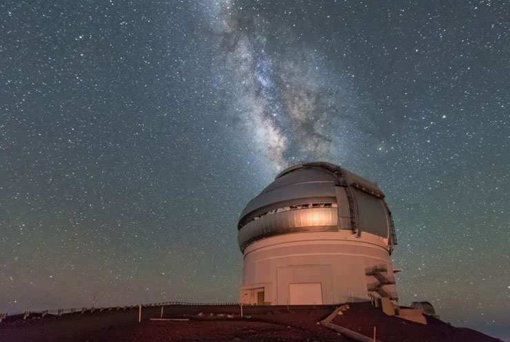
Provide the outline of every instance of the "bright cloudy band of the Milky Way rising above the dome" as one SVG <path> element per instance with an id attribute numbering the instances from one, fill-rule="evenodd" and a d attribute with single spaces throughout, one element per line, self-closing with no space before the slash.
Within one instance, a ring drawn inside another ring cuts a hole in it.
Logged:
<path id="1" fill-rule="evenodd" d="M 338 82 L 341 75 L 316 67 L 326 56 L 303 48 L 288 23 L 267 18 L 272 9 L 245 4 L 242 12 L 243 5 L 232 2 L 215 6 L 210 21 L 227 69 L 217 72 L 234 86 L 234 115 L 272 169 L 338 156 L 335 148 L 343 137 L 335 132 L 342 125 L 359 128 L 338 103 L 349 93 Z"/>

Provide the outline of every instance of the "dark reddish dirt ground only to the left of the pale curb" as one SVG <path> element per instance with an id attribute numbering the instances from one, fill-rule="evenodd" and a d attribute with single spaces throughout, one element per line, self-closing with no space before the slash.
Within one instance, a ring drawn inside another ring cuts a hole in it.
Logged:
<path id="1" fill-rule="evenodd" d="M 155 309 L 152 310 L 152 317 L 159 317 L 160 309 Z M 143 321 L 138 323 L 136 310 L 17 320 L 0 325 L 0 342 L 349 341 L 316 324 L 327 317 L 332 308 L 289 312 L 272 308 L 247 308 L 245 311 L 251 314 L 245 317 L 234 314 L 231 308 L 223 310 L 227 312 L 223 316 L 218 316 L 221 308 L 202 309 L 205 310 L 181 307 L 165 315 L 186 317 L 190 321 L 150 321 L 146 311 Z M 200 312 L 202 314 L 198 316 Z M 228 312 L 232 312 L 233 317 L 227 317 Z M 130 321 L 126 322 L 126 319 Z"/>

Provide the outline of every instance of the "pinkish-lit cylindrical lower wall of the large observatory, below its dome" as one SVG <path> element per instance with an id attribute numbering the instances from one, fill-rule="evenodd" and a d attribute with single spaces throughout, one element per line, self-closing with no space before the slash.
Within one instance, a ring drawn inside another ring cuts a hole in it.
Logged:
<path id="1" fill-rule="evenodd" d="M 266 303 L 285 305 L 289 284 L 319 282 L 324 304 L 367 301 L 367 284 L 376 279 L 366 276 L 365 268 L 386 264 L 388 275 L 393 276 L 386 246 L 387 239 L 368 233 L 356 237 L 350 231 L 261 239 L 245 249 L 241 303 L 254 303 L 252 293 L 263 288 Z M 385 290 L 395 292 L 396 287 L 386 285 Z"/>

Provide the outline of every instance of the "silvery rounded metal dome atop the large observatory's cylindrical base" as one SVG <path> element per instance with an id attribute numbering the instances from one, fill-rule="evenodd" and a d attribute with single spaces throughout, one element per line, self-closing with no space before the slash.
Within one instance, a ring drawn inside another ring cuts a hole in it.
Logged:
<path id="1" fill-rule="evenodd" d="M 387 239 L 391 253 L 396 235 L 384 197 L 377 184 L 329 162 L 297 164 L 247 204 L 238 244 L 243 251 L 274 235 L 345 229 Z"/>

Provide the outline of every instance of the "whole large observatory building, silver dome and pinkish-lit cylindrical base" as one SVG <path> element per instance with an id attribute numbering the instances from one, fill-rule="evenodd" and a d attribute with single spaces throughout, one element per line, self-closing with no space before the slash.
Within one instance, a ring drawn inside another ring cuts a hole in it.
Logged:
<path id="1" fill-rule="evenodd" d="M 240 302 L 396 301 L 396 235 L 384 197 L 377 184 L 328 162 L 282 171 L 238 222 Z"/>

